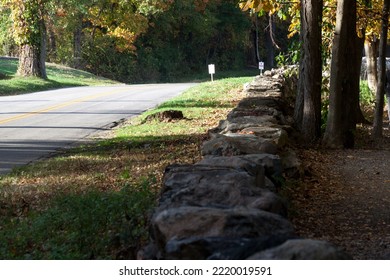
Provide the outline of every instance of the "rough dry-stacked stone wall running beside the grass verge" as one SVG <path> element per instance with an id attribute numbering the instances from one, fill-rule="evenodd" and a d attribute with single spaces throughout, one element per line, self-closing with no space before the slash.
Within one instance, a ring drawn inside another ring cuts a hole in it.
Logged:
<path id="1" fill-rule="evenodd" d="M 296 236 L 278 195 L 301 172 L 288 147 L 295 81 L 280 71 L 256 77 L 210 130 L 203 159 L 166 168 L 140 259 L 349 259 L 326 241 Z"/>

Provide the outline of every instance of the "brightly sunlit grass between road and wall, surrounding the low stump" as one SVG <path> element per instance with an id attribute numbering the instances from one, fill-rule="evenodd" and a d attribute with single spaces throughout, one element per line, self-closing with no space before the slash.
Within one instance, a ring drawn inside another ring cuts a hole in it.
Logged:
<path id="1" fill-rule="evenodd" d="M 157 108 L 144 113 L 140 118 L 133 121 L 131 126 L 126 126 L 117 131 L 117 136 L 127 139 L 131 135 L 131 141 L 136 141 L 134 137 L 146 139 L 160 135 L 192 135 L 206 133 L 209 126 L 207 123 L 218 121 L 221 117 L 217 111 L 221 109 L 224 113 L 232 108 L 232 100 L 237 98 L 237 88 L 242 88 L 243 84 L 253 78 L 239 77 L 221 79 L 216 82 L 206 82 L 190 88 L 182 95 L 173 98 Z M 149 121 L 144 124 L 144 120 L 157 112 L 165 110 L 179 110 L 185 117 L 180 122 L 160 122 Z"/>

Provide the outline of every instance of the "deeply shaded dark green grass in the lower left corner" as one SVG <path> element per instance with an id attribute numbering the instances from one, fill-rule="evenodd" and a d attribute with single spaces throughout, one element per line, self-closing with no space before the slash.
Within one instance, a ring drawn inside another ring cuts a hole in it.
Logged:
<path id="1" fill-rule="evenodd" d="M 46 211 L 32 212 L 22 220 L 2 220 L 0 256 L 134 258 L 131 250 L 147 238 L 147 217 L 155 203 L 153 191 L 145 180 L 140 185 L 125 185 L 117 192 L 58 196 Z"/>

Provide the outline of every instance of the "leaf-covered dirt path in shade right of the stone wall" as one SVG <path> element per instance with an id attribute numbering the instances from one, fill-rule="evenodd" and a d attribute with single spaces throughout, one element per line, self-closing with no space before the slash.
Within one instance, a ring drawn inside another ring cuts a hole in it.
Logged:
<path id="1" fill-rule="evenodd" d="M 390 259 L 390 138 L 300 157 L 304 182 L 289 187 L 297 233 L 331 241 L 354 259 Z"/>

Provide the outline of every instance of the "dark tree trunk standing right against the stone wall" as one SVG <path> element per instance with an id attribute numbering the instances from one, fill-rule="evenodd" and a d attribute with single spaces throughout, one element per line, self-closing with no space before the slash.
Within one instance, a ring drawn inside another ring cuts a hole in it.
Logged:
<path id="1" fill-rule="evenodd" d="M 321 136 L 321 0 L 301 0 L 302 52 L 295 121 L 306 143 Z"/>

